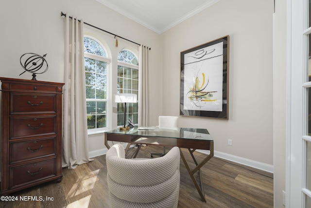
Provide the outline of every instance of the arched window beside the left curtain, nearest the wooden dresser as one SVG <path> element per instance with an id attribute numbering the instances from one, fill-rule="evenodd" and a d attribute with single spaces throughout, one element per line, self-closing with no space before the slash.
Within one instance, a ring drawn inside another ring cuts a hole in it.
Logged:
<path id="1" fill-rule="evenodd" d="M 99 41 L 85 37 L 87 129 L 107 127 L 108 64 L 110 59 Z"/>

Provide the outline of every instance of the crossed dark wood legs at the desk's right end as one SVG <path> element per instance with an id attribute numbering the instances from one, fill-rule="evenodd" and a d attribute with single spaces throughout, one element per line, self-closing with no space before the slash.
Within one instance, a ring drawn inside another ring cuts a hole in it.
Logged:
<path id="1" fill-rule="evenodd" d="M 190 152 L 190 155 L 191 155 L 191 157 L 192 157 L 192 159 L 193 159 L 193 161 L 194 161 L 194 163 L 195 163 L 195 165 L 196 165 L 196 167 L 195 167 L 193 170 L 190 169 L 190 167 L 189 167 L 189 165 L 188 165 L 188 163 L 187 163 L 187 161 L 186 161 L 186 158 L 185 158 L 185 156 L 184 156 L 184 154 L 183 154 L 183 152 L 181 151 L 180 148 L 179 148 L 179 150 L 180 150 L 181 159 L 183 160 L 183 162 L 184 162 L 184 164 L 185 164 L 185 166 L 186 166 L 186 169 L 187 169 L 188 172 L 189 172 L 189 175 L 190 175 L 190 177 L 191 177 L 191 179 L 192 179 L 192 181 L 193 181 L 193 184 L 194 184 L 195 188 L 198 190 L 198 192 L 199 192 L 199 194 L 200 194 L 200 196 L 201 196 L 201 200 L 202 200 L 203 202 L 206 202 L 205 194 L 204 194 L 204 186 L 203 186 L 204 184 L 203 184 L 202 174 L 201 174 L 200 168 L 201 168 L 202 166 L 204 166 L 204 164 L 206 164 L 207 161 L 210 160 L 210 158 L 212 158 L 212 157 L 214 156 L 214 143 L 211 142 L 211 145 L 210 145 L 210 153 L 207 155 L 207 157 L 206 157 L 204 160 L 201 161 L 200 164 L 197 163 L 197 161 L 196 161 L 196 159 L 195 159 L 195 157 L 194 157 L 194 155 L 193 155 L 193 152 L 195 151 L 195 149 L 192 149 L 192 150 L 191 150 L 191 149 L 188 149 L 189 152 Z M 199 186 L 198 182 L 197 182 L 196 179 L 194 178 L 194 173 L 196 173 L 197 171 L 199 171 L 200 185 L 201 185 L 201 187 Z"/>

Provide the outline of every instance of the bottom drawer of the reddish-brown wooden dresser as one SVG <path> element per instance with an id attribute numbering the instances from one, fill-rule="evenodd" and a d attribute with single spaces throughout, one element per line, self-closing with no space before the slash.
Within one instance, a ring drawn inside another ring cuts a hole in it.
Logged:
<path id="1" fill-rule="evenodd" d="M 10 188 L 55 176 L 55 159 L 10 168 Z"/>

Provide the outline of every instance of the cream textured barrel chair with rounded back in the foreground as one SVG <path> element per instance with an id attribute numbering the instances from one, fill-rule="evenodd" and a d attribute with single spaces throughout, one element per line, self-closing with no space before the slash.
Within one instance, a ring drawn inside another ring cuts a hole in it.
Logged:
<path id="1" fill-rule="evenodd" d="M 109 199 L 113 208 L 177 208 L 180 152 L 173 147 L 163 157 L 125 159 L 121 144 L 106 153 Z"/>

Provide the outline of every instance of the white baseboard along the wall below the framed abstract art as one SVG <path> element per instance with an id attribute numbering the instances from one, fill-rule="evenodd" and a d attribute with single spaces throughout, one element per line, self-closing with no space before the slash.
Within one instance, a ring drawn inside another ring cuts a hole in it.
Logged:
<path id="1" fill-rule="evenodd" d="M 208 150 L 197 150 L 197 151 L 205 153 L 205 154 L 209 154 Z M 222 158 L 225 160 L 229 160 L 229 161 L 232 161 L 235 163 L 239 163 L 239 164 L 242 164 L 245 166 L 249 166 L 252 168 L 259 169 L 259 170 L 264 170 L 264 171 L 271 172 L 271 173 L 273 173 L 273 171 L 274 171 L 274 167 L 272 165 L 257 162 L 254 160 L 249 160 L 249 159 L 239 157 L 239 156 L 235 156 L 232 154 L 227 154 L 227 153 L 224 153 L 221 151 L 214 151 L 214 157 Z"/>

